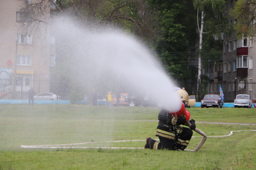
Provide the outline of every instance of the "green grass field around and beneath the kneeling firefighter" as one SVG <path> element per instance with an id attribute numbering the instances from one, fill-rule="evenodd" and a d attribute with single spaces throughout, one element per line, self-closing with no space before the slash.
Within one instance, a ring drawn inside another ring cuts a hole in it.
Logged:
<path id="1" fill-rule="evenodd" d="M 197 128 L 208 136 L 198 152 L 102 148 L 35 149 L 21 148 L 21 145 L 143 148 L 147 137 L 157 139 L 155 135 L 160 108 L 2 104 L 0 170 L 256 169 L 256 131 L 239 131 L 233 132 L 229 137 L 216 137 L 228 135 L 231 131 L 256 130 L 256 109 L 192 107 L 188 110 L 191 118 L 196 121 Z M 201 139 L 194 132 L 186 149 L 193 150 Z M 139 141 L 108 142 L 120 140 Z M 94 143 L 78 144 L 85 142 Z"/>

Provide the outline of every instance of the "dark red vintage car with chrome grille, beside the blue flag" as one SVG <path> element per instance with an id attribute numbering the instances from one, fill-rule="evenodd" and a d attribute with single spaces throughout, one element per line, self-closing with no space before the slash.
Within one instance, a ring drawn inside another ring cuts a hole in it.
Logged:
<path id="1" fill-rule="evenodd" d="M 206 94 L 204 96 L 204 99 L 201 100 L 201 107 L 208 108 L 208 107 L 218 107 L 222 108 L 223 107 L 223 100 L 221 99 L 220 95 L 218 94 Z"/>

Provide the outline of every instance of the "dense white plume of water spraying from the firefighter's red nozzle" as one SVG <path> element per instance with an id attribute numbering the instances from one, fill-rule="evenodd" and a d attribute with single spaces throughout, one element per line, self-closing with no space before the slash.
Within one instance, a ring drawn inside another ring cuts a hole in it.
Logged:
<path id="1" fill-rule="evenodd" d="M 58 57 L 62 64 L 67 60 L 65 64 L 76 83 L 99 89 L 107 82 L 122 82 L 150 95 L 172 112 L 180 110 L 181 102 L 171 78 L 136 38 L 109 26 L 92 29 L 67 17 L 58 18 L 52 28 L 56 43 L 65 54 Z"/>

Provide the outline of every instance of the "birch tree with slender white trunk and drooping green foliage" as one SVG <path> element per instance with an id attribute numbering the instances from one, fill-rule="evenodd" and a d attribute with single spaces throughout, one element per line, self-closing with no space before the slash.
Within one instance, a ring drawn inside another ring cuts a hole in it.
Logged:
<path id="1" fill-rule="evenodd" d="M 221 43 L 218 41 L 221 40 L 221 33 L 229 36 L 233 32 L 233 27 L 228 23 L 228 18 L 222 14 L 225 7 L 224 0 L 194 0 L 194 7 L 197 10 L 197 27 L 199 34 L 197 74 L 197 82 L 199 84 L 202 74 L 203 51 L 211 51 L 212 54 L 215 54 L 213 55 L 214 57 L 220 57 L 221 48 L 220 46 L 219 48 L 216 47 L 218 47 L 218 43 Z M 203 35 L 207 38 L 204 38 Z M 207 39 L 208 42 L 203 42 L 203 40 Z M 214 46 L 209 46 L 212 42 L 215 44 L 215 48 L 212 48 Z"/>

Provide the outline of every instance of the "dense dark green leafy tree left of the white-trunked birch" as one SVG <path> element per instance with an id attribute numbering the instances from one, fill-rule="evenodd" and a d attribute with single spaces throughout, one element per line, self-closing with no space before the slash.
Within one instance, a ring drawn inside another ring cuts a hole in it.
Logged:
<path id="1" fill-rule="evenodd" d="M 161 36 L 158 36 L 155 51 L 163 67 L 174 80 L 191 79 L 195 74 L 188 70 L 188 51 L 196 41 L 196 13 L 192 1 L 149 0 L 149 3 L 158 11 L 157 29 L 161 30 Z"/>

